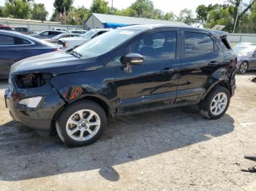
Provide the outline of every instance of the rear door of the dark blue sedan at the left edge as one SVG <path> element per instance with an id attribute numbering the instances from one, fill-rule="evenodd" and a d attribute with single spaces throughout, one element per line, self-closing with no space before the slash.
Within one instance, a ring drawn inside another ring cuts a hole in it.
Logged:
<path id="1" fill-rule="evenodd" d="M 0 77 L 8 77 L 13 63 L 26 58 L 28 50 L 24 47 L 32 45 L 27 39 L 9 34 L 0 34 Z"/>

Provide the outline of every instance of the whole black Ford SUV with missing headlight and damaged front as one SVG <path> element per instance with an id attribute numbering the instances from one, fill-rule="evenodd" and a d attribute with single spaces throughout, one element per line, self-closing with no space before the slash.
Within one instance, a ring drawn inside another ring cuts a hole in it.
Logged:
<path id="1" fill-rule="evenodd" d="M 236 89 L 236 71 L 224 32 L 128 26 L 15 63 L 5 98 L 14 120 L 80 146 L 120 114 L 199 104 L 203 116 L 217 119 Z"/>

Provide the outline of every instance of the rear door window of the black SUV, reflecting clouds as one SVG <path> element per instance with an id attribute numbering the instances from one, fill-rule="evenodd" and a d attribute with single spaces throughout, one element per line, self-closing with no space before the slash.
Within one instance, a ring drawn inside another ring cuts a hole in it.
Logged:
<path id="1" fill-rule="evenodd" d="M 185 32 L 185 57 L 214 52 L 214 41 L 207 34 Z"/>

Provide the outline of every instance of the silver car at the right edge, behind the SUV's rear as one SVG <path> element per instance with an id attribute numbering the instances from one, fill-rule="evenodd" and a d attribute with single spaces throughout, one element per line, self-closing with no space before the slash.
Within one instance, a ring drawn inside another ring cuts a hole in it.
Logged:
<path id="1" fill-rule="evenodd" d="M 233 52 L 238 55 L 238 72 L 246 73 L 251 69 L 256 69 L 256 44 L 239 43 L 233 47 Z"/>

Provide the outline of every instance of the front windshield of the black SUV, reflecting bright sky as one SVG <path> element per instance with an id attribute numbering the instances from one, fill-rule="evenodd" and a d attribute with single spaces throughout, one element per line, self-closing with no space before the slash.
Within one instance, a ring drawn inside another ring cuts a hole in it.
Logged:
<path id="1" fill-rule="evenodd" d="M 80 53 L 83 57 L 94 57 L 105 54 L 123 42 L 130 39 L 132 36 L 140 33 L 135 30 L 113 30 L 108 33 L 97 36 L 91 39 L 89 42 L 80 45 L 75 49 L 76 52 Z"/>

